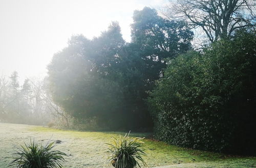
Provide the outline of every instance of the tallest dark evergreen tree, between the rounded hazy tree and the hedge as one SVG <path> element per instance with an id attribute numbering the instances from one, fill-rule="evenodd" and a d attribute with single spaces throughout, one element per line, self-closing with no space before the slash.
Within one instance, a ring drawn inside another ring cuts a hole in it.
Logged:
<path id="1" fill-rule="evenodd" d="M 152 90 L 154 81 L 162 75 L 166 58 L 175 58 L 191 48 L 193 33 L 184 22 L 163 19 L 151 8 L 135 11 L 133 19 L 132 42 L 120 53 L 120 85 L 126 109 L 136 114 L 133 120 L 151 130 L 153 122 L 145 103 L 147 91 Z"/>

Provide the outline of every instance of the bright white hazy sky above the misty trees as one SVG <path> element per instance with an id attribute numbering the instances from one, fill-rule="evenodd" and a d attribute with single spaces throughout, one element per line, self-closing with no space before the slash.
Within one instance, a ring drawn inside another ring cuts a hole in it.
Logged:
<path id="1" fill-rule="evenodd" d="M 93 38 L 119 21 L 131 40 L 134 10 L 161 8 L 167 0 L 0 0 L 0 76 L 17 71 L 19 81 L 43 77 L 54 53 L 72 35 Z"/>

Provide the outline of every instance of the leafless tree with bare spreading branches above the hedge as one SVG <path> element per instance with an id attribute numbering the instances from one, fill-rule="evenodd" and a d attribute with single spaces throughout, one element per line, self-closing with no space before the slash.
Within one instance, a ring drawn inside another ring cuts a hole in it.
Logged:
<path id="1" fill-rule="evenodd" d="M 210 42 L 230 38 L 238 29 L 256 24 L 254 0 L 181 0 L 167 15 L 200 27 Z"/>

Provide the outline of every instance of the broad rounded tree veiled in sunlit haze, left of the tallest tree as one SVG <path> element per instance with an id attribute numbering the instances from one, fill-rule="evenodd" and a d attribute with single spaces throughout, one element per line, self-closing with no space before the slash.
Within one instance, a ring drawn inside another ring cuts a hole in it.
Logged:
<path id="1" fill-rule="evenodd" d="M 119 85 L 118 66 L 124 40 L 113 22 L 101 36 L 88 40 L 74 36 L 48 66 L 53 100 L 77 124 L 94 120 L 101 129 L 123 129 L 129 124 Z M 133 121 L 130 121 L 133 122 Z"/>

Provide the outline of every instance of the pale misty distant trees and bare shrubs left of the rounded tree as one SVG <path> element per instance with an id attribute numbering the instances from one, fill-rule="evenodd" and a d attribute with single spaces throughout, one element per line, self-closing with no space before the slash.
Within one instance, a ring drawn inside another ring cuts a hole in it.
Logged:
<path id="1" fill-rule="evenodd" d="M 69 117 L 53 102 L 48 88 L 47 77 L 27 78 L 23 85 L 16 71 L 9 78 L 0 77 L 0 122 L 47 125 L 58 119 L 68 123 Z"/>

